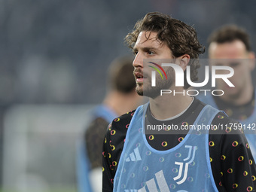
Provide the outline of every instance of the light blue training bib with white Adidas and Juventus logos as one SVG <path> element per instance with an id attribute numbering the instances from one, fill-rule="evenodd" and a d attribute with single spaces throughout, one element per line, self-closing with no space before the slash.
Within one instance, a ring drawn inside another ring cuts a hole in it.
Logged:
<path id="1" fill-rule="evenodd" d="M 148 104 L 139 106 L 131 120 L 114 177 L 114 191 L 218 191 L 209 157 L 209 134 L 189 130 L 174 148 L 157 151 L 145 138 Z M 210 125 L 218 110 L 206 105 L 194 126 Z"/>

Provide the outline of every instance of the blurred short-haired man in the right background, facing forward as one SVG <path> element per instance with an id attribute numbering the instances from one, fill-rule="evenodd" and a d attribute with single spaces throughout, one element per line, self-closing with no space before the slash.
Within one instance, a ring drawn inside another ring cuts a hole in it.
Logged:
<path id="1" fill-rule="evenodd" d="M 230 66 L 234 75 L 230 81 L 235 87 L 227 87 L 224 81 L 216 81 L 218 90 L 225 90 L 222 96 L 203 96 L 199 99 L 238 120 L 244 130 L 256 160 L 256 108 L 255 90 L 251 72 L 254 69 L 254 53 L 247 32 L 235 25 L 222 26 L 209 36 L 209 59 L 212 66 Z"/>

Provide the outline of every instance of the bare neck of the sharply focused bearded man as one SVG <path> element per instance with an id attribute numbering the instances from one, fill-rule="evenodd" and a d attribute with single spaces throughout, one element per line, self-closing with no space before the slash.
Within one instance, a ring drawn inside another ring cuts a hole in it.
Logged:
<path id="1" fill-rule="evenodd" d="M 193 98 L 190 96 L 173 96 L 171 94 L 157 96 L 155 99 L 149 99 L 151 114 L 158 120 L 164 120 L 170 117 L 174 117 L 184 111 Z"/>

